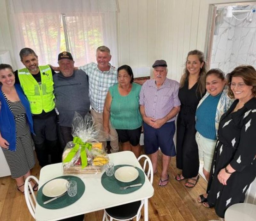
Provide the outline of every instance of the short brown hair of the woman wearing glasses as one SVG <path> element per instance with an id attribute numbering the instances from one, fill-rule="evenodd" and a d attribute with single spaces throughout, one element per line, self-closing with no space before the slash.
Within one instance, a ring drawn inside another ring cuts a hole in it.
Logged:
<path id="1" fill-rule="evenodd" d="M 232 77 L 241 77 L 246 85 L 252 86 L 252 95 L 256 97 L 256 70 L 254 67 L 251 65 L 241 65 L 227 74 L 228 96 L 230 98 L 235 98 L 234 93 L 230 88 Z"/>

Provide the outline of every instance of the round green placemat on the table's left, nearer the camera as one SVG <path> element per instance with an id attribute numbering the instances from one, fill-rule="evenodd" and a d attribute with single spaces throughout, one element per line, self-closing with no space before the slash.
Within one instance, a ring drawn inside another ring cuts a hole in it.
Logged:
<path id="1" fill-rule="evenodd" d="M 80 179 L 79 177 L 75 177 L 75 176 L 61 176 L 61 177 L 56 177 L 54 179 L 59 179 L 59 178 L 63 178 L 63 179 L 68 179 L 69 181 L 74 180 L 76 181 L 77 184 L 77 194 L 73 197 L 69 196 L 68 193 L 66 193 L 64 196 L 61 196 L 60 198 L 53 200 L 52 202 L 49 202 L 47 204 L 43 204 L 44 201 L 46 200 L 50 200 L 52 197 L 48 197 L 45 196 L 42 192 L 44 184 L 37 192 L 36 194 L 36 201 L 37 203 L 46 208 L 46 209 L 60 209 L 66 206 L 71 205 L 72 203 L 76 202 L 78 199 L 80 199 L 80 197 L 84 194 L 84 190 L 85 190 L 85 186 L 84 186 L 84 182 L 82 179 Z M 49 180 L 50 181 L 50 180 Z M 49 182 L 48 181 L 48 182 Z"/>

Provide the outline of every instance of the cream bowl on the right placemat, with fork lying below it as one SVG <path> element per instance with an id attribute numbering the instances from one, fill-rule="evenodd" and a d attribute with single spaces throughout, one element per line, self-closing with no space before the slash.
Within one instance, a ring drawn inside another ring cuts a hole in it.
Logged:
<path id="1" fill-rule="evenodd" d="M 132 182 L 133 180 L 137 179 L 138 176 L 138 170 L 132 166 L 120 167 L 115 172 L 116 179 L 125 183 Z"/>

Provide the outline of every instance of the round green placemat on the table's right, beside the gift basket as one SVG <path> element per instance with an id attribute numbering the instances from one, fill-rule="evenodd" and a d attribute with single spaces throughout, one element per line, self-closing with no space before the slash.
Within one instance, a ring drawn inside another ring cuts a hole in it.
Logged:
<path id="1" fill-rule="evenodd" d="M 122 164 L 122 165 L 116 165 L 115 166 L 115 171 L 122 167 L 122 166 L 131 166 L 131 165 L 127 165 L 127 164 Z M 142 183 L 142 185 L 145 182 L 145 173 L 144 171 L 140 170 L 139 168 L 136 167 L 136 169 L 139 171 L 139 176 L 137 179 L 133 180 L 132 182 L 121 182 L 119 180 L 117 180 L 115 178 L 115 175 L 108 177 L 106 172 L 103 173 L 103 175 L 101 176 L 101 184 L 102 186 L 108 190 L 111 193 L 115 193 L 115 194 L 128 194 L 128 193 L 132 193 L 138 189 L 140 189 L 140 187 L 131 187 L 131 188 L 127 188 L 125 190 L 121 190 L 120 187 L 126 187 L 132 184 L 137 184 L 137 183 Z"/>

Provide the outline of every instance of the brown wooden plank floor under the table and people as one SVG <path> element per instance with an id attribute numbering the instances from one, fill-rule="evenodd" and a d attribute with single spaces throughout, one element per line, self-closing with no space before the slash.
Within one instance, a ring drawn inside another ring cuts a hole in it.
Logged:
<path id="1" fill-rule="evenodd" d="M 175 174 L 180 171 L 176 168 L 176 158 L 173 157 L 169 166 L 170 182 L 165 187 L 158 186 L 160 174 L 154 175 L 153 186 L 154 196 L 149 199 L 148 210 L 150 221 L 207 221 L 219 219 L 214 209 L 204 208 L 201 203 L 196 201 L 199 194 L 205 192 L 206 181 L 201 177 L 194 188 L 184 186 L 185 180 L 177 181 Z M 161 171 L 161 157 L 158 157 L 158 171 Z M 38 163 L 32 170 L 32 175 L 39 178 L 40 167 Z M 0 178 L 0 220 L 1 221 L 29 221 L 34 220 L 30 215 L 25 197 L 17 191 L 15 180 L 9 177 Z M 100 200 L 100 199 L 99 199 Z M 89 202 L 88 202 L 89 203 Z M 102 220 L 103 210 L 85 214 L 85 220 Z M 142 211 L 141 220 L 144 214 Z"/>

